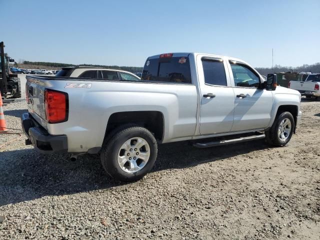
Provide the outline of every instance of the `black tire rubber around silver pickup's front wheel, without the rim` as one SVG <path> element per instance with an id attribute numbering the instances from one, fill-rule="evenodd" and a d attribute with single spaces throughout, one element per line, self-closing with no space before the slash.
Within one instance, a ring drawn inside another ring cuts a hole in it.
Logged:
<path id="1" fill-rule="evenodd" d="M 291 131 L 285 140 L 281 140 L 278 134 L 278 127 L 283 119 L 289 119 L 291 123 Z M 292 137 L 294 130 L 294 119 L 290 112 L 283 111 L 276 115 L 274 122 L 269 130 L 265 132 L 266 141 L 274 146 L 284 146 Z"/>

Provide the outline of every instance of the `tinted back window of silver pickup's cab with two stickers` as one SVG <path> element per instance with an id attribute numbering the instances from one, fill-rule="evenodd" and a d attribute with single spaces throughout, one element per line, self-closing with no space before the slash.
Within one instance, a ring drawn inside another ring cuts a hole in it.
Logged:
<path id="1" fill-rule="evenodd" d="M 173 56 L 147 59 L 141 80 L 191 83 L 189 58 Z"/>

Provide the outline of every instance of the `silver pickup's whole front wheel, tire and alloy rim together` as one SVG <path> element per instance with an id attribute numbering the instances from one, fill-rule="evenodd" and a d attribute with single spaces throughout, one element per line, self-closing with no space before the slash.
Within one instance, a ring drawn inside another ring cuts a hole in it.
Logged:
<path id="1" fill-rule="evenodd" d="M 276 115 L 269 130 L 265 132 L 266 141 L 275 146 L 284 146 L 292 137 L 294 119 L 290 112 L 283 111 Z"/>

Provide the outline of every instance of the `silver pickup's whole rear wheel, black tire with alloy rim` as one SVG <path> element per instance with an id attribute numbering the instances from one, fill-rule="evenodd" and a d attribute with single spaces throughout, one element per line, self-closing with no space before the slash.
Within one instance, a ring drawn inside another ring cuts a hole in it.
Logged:
<path id="1" fill-rule="evenodd" d="M 144 127 L 119 129 L 102 146 L 101 163 L 104 170 L 121 181 L 135 181 L 148 173 L 154 165 L 157 143 Z"/>

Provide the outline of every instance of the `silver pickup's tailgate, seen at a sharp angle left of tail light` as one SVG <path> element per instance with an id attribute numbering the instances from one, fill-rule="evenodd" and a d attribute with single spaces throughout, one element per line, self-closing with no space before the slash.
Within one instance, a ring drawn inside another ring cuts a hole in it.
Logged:
<path id="1" fill-rule="evenodd" d="M 44 89 L 47 79 L 39 76 L 26 76 L 25 94 L 28 112 L 44 128 L 46 128 L 44 109 Z"/>

